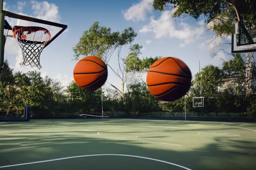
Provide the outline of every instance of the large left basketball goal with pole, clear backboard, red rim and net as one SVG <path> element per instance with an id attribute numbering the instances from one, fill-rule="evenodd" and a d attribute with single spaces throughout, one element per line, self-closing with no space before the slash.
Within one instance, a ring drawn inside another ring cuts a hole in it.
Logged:
<path id="1" fill-rule="evenodd" d="M 40 69 L 41 68 L 40 54 L 41 54 L 42 50 L 46 46 L 48 46 L 53 40 L 55 40 L 61 33 L 63 33 L 65 31 L 65 29 L 67 28 L 67 25 L 50 22 L 50 21 L 45 21 L 45 20 L 41 20 L 41 19 L 37 19 L 37 18 L 28 17 L 28 16 L 23 16 L 23 15 L 19 15 L 19 14 L 15 14 L 15 13 L 12 13 L 9 11 L 2 10 L 3 9 L 3 0 L 0 0 L 0 9 L 2 11 L 2 13 L 0 13 L 0 22 L 1 22 L 1 25 L 0 25 L 0 31 L 1 31 L 1 34 L 0 34 L 0 41 L 1 41 L 0 73 L 2 71 L 2 68 L 4 67 L 4 47 L 5 47 L 5 41 L 6 41 L 7 37 L 10 37 L 10 38 L 15 37 L 17 42 L 19 43 L 19 46 L 22 49 L 23 61 L 21 62 L 22 64 L 20 64 L 20 65 L 23 65 L 23 66 L 31 65 L 31 67 L 37 66 Z M 7 22 L 6 17 L 9 17 L 9 19 L 10 18 L 17 19 L 17 21 L 18 21 L 17 24 L 10 26 L 10 24 Z M 28 21 L 28 22 L 24 22 L 24 21 Z M 19 24 L 19 23 L 21 23 L 21 24 Z M 22 25 L 22 23 L 23 24 L 29 23 L 29 24 Z M 55 35 L 52 35 L 50 33 L 50 31 L 48 31 L 47 29 L 44 29 L 45 26 L 59 27 L 60 29 Z M 17 30 L 17 28 L 19 30 Z M 44 34 L 47 34 L 48 35 L 47 41 L 42 39 L 42 36 L 36 35 L 35 32 L 43 32 Z M 32 35 L 32 33 L 33 33 L 33 35 Z M 27 38 L 28 36 L 26 36 L 26 34 L 30 35 L 30 39 Z M 34 37 L 38 36 L 41 39 L 34 38 L 33 36 Z M 26 62 L 29 64 L 26 65 Z M 31 64 L 32 62 L 38 62 L 38 64 Z"/>

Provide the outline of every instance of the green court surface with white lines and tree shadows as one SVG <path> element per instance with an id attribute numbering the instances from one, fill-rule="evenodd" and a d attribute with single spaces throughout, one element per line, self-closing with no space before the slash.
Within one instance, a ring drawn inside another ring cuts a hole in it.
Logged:
<path id="1" fill-rule="evenodd" d="M 0 123 L 0 169 L 246 170 L 256 124 L 135 119 Z"/>

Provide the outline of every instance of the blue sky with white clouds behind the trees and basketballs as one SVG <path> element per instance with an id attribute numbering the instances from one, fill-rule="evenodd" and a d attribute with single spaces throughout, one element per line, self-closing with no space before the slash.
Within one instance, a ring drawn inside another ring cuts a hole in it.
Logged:
<path id="1" fill-rule="evenodd" d="M 138 34 L 133 43 L 143 46 L 140 58 L 177 57 L 188 65 L 192 75 L 199 71 L 199 60 L 201 68 L 208 64 L 221 66 L 221 58 L 228 60 L 228 56 L 221 51 L 217 52 L 215 57 L 211 57 L 213 44 L 218 44 L 220 39 L 214 39 L 210 45 L 207 45 L 213 40 L 215 33 L 207 29 L 212 23 L 207 25 L 204 22 L 206 18 L 201 17 L 198 20 L 190 16 L 172 18 L 175 9 L 155 11 L 152 2 L 153 0 L 4 0 L 4 10 L 68 26 L 67 30 L 49 44 L 40 56 L 42 76 L 48 75 L 57 79 L 63 86 L 74 80 L 73 69 L 77 61 L 72 61 L 74 58 L 72 48 L 79 42 L 83 32 L 96 21 L 101 26 L 110 27 L 113 32 L 121 32 L 125 28 L 132 27 Z M 14 25 L 44 27 L 50 31 L 52 37 L 60 30 L 56 27 L 8 17 L 6 20 L 11 27 Z M 11 35 L 11 31 L 8 34 Z M 229 41 L 231 38 L 226 37 L 226 39 Z M 122 48 L 121 56 L 127 56 L 128 53 L 129 45 Z M 37 67 L 20 67 L 21 49 L 11 37 L 7 38 L 5 44 L 5 59 L 15 71 L 38 70 Z M 113 53 L 108 64 L 114 70 L 118 70 L 117 52 Z M 121 80 L 114 72 L 108 70 L 107 82 L 121 88 Z M 145 78 L 146 74 L 143 76 L 144 80 Z"/>

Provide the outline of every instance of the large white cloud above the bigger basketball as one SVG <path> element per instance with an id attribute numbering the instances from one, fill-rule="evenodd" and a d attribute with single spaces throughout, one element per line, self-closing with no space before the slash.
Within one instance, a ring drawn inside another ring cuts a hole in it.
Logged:
<path id="1" fill-rule="evenodd" d="M 163 37 L 177 38 L 179 40 L 184 41 L 180 44 L 180 46 L 185 46 L 191 42 L 194 42 L 196 39 L 199 39 L 201 35 L 204 33 L 205 28 L 203 26 L 193 28 L 188 24 L 181 22 L 179 27 L 181 29 L 176 29 L 175 22 L 172 17 L 172 11 L 165 11 L 162 13 L 160 18 L 157 20 L 154 17 L 151 17 L 150 23 L 145 25 L 139 32 L 140 33 L 154 33 L 156 39 L 161 39 Z"/>

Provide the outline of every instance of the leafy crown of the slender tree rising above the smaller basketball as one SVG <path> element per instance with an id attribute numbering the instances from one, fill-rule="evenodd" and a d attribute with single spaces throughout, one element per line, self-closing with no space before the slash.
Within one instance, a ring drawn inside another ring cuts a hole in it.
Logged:
<path id="1" fill-rule="evenodd" d="M 131 27 L 124 29 L 121 33 L 111 33 L 111 28 L 101 27 L 99 22 L 95 22 L 73 47 L 74 60 L 78 60 L 81 55 L 94 55 L 102 58 L 107 64 L 118 47 L 133 42 L 135 37 L 137 34 Z"/>

